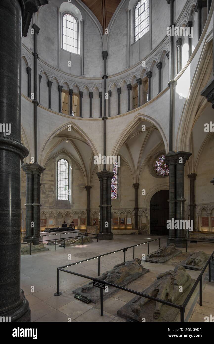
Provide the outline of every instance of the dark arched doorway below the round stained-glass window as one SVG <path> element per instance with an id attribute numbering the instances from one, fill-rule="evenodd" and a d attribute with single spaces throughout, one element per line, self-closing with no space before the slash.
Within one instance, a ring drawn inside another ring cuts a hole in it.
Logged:
<path id="1" fill-rule="evenodd" d="M 150 234 L 169 235 L 169 191 L 156 192 L 150 201 Z"/>

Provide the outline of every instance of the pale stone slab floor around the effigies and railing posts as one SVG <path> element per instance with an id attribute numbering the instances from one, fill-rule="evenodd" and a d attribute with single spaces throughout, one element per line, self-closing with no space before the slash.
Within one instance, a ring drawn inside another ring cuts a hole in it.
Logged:
<path id="1" fill-rule="evenodd" d="M 35 322 L 123 322 L 117 316 L 117 310 L 121 308 L 127 301 L 131 300 L 134 295 L 125 291 L 116 291 L 112 297 L 103 302 L 104 314 L 100 316 L 100 304 L 83 303 L 69 295 L 73 289 L 88 282 L 85 278 L 71 275 L 66 272 L 59 272 L 59 289 L 61 296 L 54 296 L 56 292 L 56 268 L 64 266 L 67 263 L 84 260 L 95 255 L 101 255 L 107 252 L 118 250 L 124 247 L 143 243 L 147 239 L 156 239 L 155 236 L 143 235 L 114 235 L 114 239 L 110 241 L 101 241 L 97 243 L 93 239 L 93 243 L 87 245 L 79 245 L 75 247 L 58 247 L 48 246 L 49 251 L 40 252 L 21 257 L 21 288 L 24 290 L 26 299 L 30 303 L 31 321 Z M 161 244 L 165 244 L 166 240 L 161 240 Z M 150 252 L 158 249 L 159 242 L 150 243 Z M 214 244 L 198 243 L 190 244 L 188 252 L 203 250 L 211 254 L 214 250 Z M 185 252 L 185 249 L 182 249 Z M 89 252 L 89 253 L 88 253 Z M 69 255 L 71 254 L 71 260 Z M 75 257 L 77 254 L 78 257 Z M 92 254 L 92 255 L 91 255 Z M 147 254 L 147 244 L 135 247 L 135 258 L 142 257 Z M 123 261 L 123 252 L 117 252 L 100 259 L 100 272 L 112 269 L 114 265 Z M 182 254 L 183 257 L 183 254 Z M 145 276 L 138 278 L 130 283 L 127 288 L 135 291 L 143 291 L 151 282 L 156 279 L 160 272 L 174 269 L 183 258 L 179 256 L 164 264 L 153 264 L 145 262 L 145 268 L 150 269 Z M 132 260 L 133 249 L 126 252 L 126 260 Z M 87 261 L 76 266 L 68 268 L 83 275 L 90 277 L 98 277 L 98 259 Z M 199 271 L 187 270 L 191 277 L 196 279 Z M 34 291 L 33 288 L 34 287 Z M 199 285 L 193 293 L 186 311 L 185 321 L 204 322 L 205 316 L 214 316 L 214 282 L 208 282 L 208 268 L 203 275 L 203 305 L 199 305 Z M 176 321 L 180 321 L 178 315 Z"/>

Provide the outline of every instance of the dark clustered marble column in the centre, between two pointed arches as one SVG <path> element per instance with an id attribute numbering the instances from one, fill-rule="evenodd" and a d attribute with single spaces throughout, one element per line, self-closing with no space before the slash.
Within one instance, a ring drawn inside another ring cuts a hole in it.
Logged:
<path id="1" fill-rule="evenodd" d="M 111 231 L 111 180 L 114 174 L 103 170 L 97 175 L 100 180 L 100 232 L 98 238 L 110 240 L 113 238 Z"/>

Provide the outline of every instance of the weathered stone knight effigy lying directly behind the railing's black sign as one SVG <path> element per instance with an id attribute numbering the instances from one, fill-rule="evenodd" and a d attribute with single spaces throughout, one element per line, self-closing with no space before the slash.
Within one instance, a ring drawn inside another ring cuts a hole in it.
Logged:
<path id="1" fill-rule="evenodd" d="M 121 264 L 115 265 L 112 270 L 104 272 L 99 279 L 105 282 L 120 285 L 135 274 L 142 274 L 143 266 L 140 266 L 140 264 L 141 260 L 138 258 L 135 258 L 131 261 L 122 262 Z M 92 282 L 89 282 L 82 287 L 82 292 L 87 292 L 91 288 L 93 288 L 93 285 Z"/>

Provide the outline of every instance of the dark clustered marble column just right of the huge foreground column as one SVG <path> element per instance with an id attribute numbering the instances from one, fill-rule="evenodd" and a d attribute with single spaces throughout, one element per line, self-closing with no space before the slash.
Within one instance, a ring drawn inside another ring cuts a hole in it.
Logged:
<path id="1" fill-rule="evenodd" d="M 40 176 L 45 171 L 38 163 L 23 164 L 26 174 L 26 236 L 25 242 L 38 245 L 40 238 Z M 32 225 L 33 222 L 33 225 Z"/>

